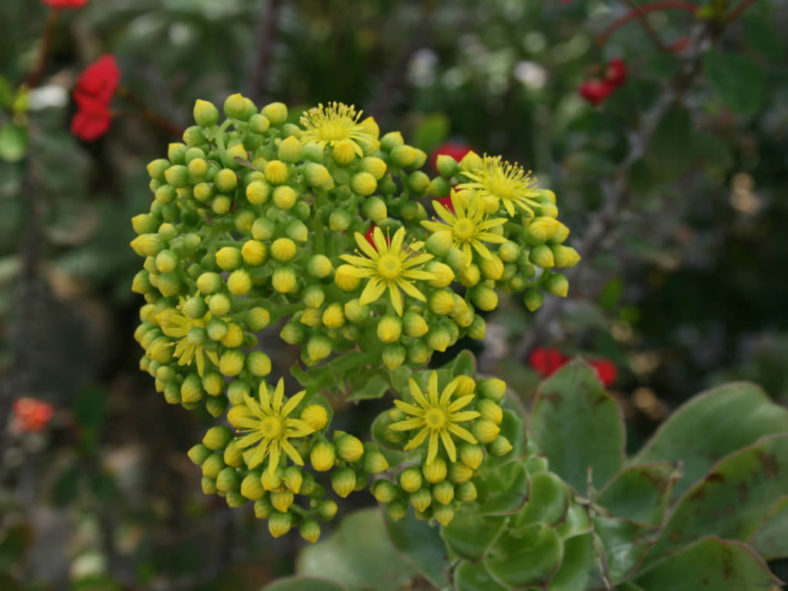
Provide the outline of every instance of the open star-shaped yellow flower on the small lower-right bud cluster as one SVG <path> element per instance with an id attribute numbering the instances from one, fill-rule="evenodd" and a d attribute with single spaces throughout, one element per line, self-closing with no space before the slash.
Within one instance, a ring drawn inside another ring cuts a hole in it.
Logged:
<path id="1" fill-rule="evenodd" d="M 414 381 L 408 382 L 410 394 L 416 404 L 410 404 L 402 400 L 395 400 L 394 404 L 402 412 L 411 415 L 404 421 L 392 423 L 389 428 L 394 431 L 411 431 L 421 429 L 405 446 L 405 450 L 416 449 L 429 437 L 427 445 L 427 464 L 432 462 L 438 455 L 438 439 L 443 443 L 443 447 L 452 462 L 457 461 L 457 448 L 454 445 L 452 435 L 467 441 L 477 443 L 476 438 L 458 423 L 472 421 L 479 416 L 475 410 L 461 410 L 468 406 L 474 399 L 473 394 L 460 396 L 454 402 L 451 397 L 457 389 L 458 380 L 449 382 L 438 394 L 438 373 L 430 374 L 427 384 L 427 396 L 424 396 L 419 385 Z"/>

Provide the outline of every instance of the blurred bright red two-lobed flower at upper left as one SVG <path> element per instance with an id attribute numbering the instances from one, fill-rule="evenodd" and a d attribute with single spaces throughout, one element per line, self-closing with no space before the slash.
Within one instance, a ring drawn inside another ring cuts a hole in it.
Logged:
<path id="1" fill-rule="evenodd" d="M 80 74 L 74 87 L 79 110 L 71 120 L 71 133 L 85 141 L 95 140 L 109 129 L 109 104 L 118 88 L 120 69 L 111 55 L 102 55 Z"/>

